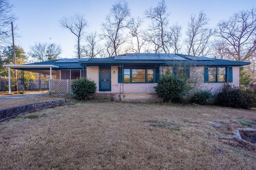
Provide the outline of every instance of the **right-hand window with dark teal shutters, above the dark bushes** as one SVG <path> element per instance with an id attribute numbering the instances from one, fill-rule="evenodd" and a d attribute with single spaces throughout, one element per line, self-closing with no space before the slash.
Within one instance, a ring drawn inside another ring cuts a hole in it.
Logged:
<path id="1" fill-rule="evenodd" d="M 205 67 L 204 82 L 222 83 L 232 82 L 232 67 Z"/>

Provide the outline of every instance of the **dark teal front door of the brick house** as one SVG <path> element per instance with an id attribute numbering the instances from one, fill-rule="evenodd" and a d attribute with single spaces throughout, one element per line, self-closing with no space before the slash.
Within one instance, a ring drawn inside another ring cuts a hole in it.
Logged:
<path id="1" fill-rule="evenodd" d="M 100 68 L 99 70 L 99 91 L 111 91 L 111 71 L 110 68 Z"/>

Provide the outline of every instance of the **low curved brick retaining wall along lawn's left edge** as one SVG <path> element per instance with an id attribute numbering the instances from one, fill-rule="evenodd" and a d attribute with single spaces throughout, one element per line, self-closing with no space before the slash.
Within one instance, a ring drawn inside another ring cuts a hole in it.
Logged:
<path id="1" fill-rule="evenodd" d="M 14 116 L 21 115 L 24 113 L 62 105 L 64 103 L 66 103 L 66 100 L 62 99 L 62 100 L 53 100 L 53 101 L 49 101 L 49 102 L 25 104 L 25 105 L 16 106 L 16 107 L 9 107 L 6 109 L 0 109 L 0 121 L 6 120 L 6 119 L 9 119 L 9 118 L 12 118 Z"/>

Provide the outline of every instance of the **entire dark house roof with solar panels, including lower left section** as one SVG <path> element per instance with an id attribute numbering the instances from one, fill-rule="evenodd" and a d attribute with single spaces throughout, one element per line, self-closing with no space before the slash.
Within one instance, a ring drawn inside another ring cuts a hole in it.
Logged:
<path id="1" fill-rule="evenodd" d="M 212 59 L 208 57 L 188 56 L 188 55 L 182 55 L 182 54 L 127 53 L 125 55 L 118 55 L 115 57 L 107 57 L 107 58 L 58 59 L 58 60 L 44 61 L 44 62 L 30 63 L 30 64 L 32 65 L 52 64 L 59 67 L 59 68 L 52 68 L 53 70 L 59 70 L 59 69 L 82 69 L 83 64 L 86 64 L 87 66 L 119 65 L 119 64 L 140 64 L 140 65 L 184 64 L 184 65 L 194 65 L 194 66 L 243 66 L 243 65 L 248 65 L 250 63 L 242 62 L 242 61 Z M 30 68 L 30 69 L 33 70 L 33 68 Z M 34 68 L 34 70 L 36 69 L 38 68 Z"/>

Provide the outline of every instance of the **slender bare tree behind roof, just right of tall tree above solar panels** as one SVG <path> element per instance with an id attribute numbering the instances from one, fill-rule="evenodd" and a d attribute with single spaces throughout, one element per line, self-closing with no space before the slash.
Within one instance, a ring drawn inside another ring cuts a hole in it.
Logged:
<path id="1" fill-rule="evenodd" d="M 182 26 L 178 25 L 177 22 L 170 27 L 170 45 L 171 45 L 171 48 L 173 49 L 174 54 L 178 54 L 178 52 L 182 48 L 181 30 L 182 30 Z"/>

